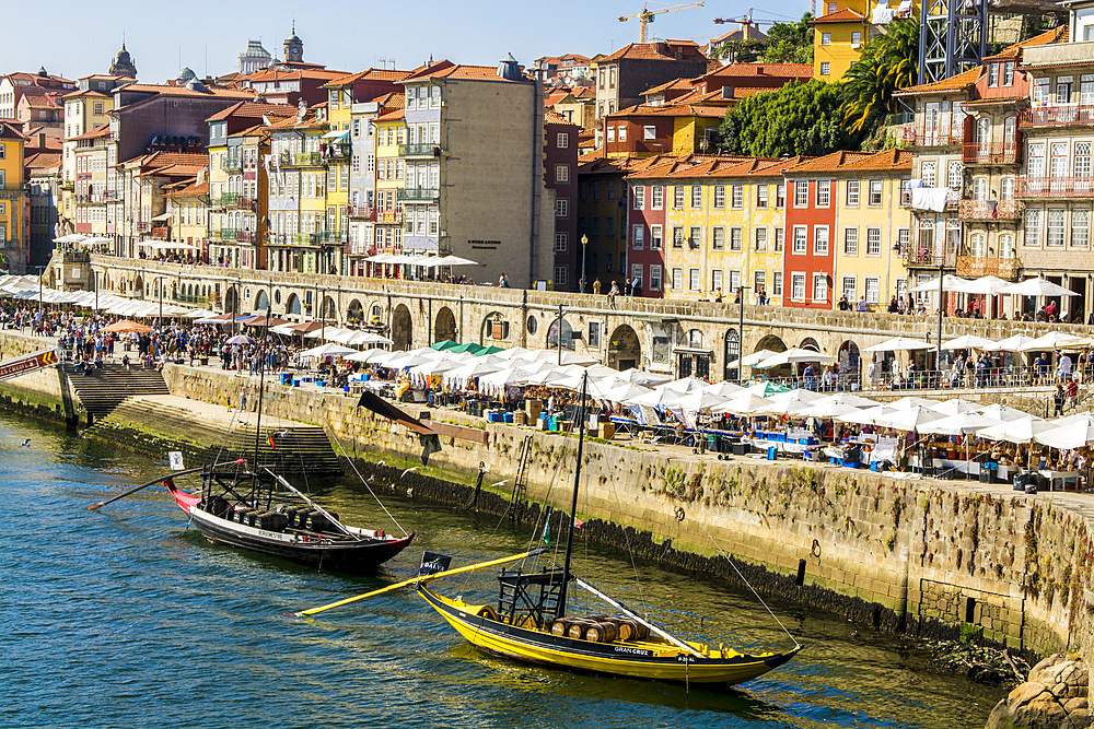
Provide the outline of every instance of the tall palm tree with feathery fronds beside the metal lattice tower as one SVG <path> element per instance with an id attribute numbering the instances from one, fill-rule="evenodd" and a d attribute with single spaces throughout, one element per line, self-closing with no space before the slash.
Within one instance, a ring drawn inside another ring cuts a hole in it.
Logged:
<path id="1" fill-rule="evenodd" d="M 893 94 L 915 84 L 918 69 L 917 21 L 896 21 L 872 38 L 843 77 L 843 120 L 851 131 L 865 136 L 896 111 Z"/>

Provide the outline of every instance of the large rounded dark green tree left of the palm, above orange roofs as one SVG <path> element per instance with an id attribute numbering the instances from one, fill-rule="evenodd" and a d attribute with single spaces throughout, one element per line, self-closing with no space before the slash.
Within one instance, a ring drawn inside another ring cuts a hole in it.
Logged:
<path id="1" fill-rule="evenodd" d="M 812 79 L 741 99 L 725 114 L 720 149 L 763 157 L 857 149 L 843 124 L 842 86 Z"/>

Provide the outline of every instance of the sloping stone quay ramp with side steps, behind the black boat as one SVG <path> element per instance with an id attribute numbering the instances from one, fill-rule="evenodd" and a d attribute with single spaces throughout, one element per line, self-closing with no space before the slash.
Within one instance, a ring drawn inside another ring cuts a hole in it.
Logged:
<path id="1" fill-rule="evenodd" d="M 90 431 L 110 431 L 112 438 L 164 456 L 168 450 L 181 450 L 187 456 L 187 466 L 199 466 L 236 458 L 253 461 L 255 420 L 254 413 L 241 416 L 221 405 L 172 395 L 146 395 L 126 398 Z M 272 449 L 267 434 L 274 438 Z M 341 461 L 322 427 L 275 418 L 263 419 L 258 462 L 286 477 L 342 473 Z"/>

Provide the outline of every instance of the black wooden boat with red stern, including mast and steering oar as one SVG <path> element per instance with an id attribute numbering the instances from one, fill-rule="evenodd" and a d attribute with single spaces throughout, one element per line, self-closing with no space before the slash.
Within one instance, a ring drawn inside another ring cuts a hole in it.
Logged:
<path id="1" fill-rule="evenodd" d="M 264 341 L 268 341 L 268 333 Z M 263 369 L 265 362 L 264 353 Z M 255 465 L 236 459 L 176 470 L 89 508 L 96 509 L 162 483 L 189 516 L 190 524 L 209 541 L 220 544 L 347 573 L 372 572 L 409 546 L 412 532 L 395 537 L 383 530 L 345 525 L 336 513 L 324 509 L 272 468 L 258 465 L 264 375 L 259 373 Z M 175 483 L 181 477 L 197 474 L 200 486 L 191 491 Z"/>

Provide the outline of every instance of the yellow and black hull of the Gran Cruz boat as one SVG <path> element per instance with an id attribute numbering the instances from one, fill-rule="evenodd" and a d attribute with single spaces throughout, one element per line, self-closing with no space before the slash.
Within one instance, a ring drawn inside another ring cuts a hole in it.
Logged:
<path id="1" fill-rule="evenodd" d="M 632 679 L 676 683 L 743 683 L 778 668 L 801 646 L 782 654 L 748 656 L 694 645 L 700 656 L 654 640 L 593 643 L 492 620 L 492 610 L 445 598 L 424 586 L 418 593 L 472 645 L 515 660 Z M 484 615 L 478 614 L 482 612 Z"/>

